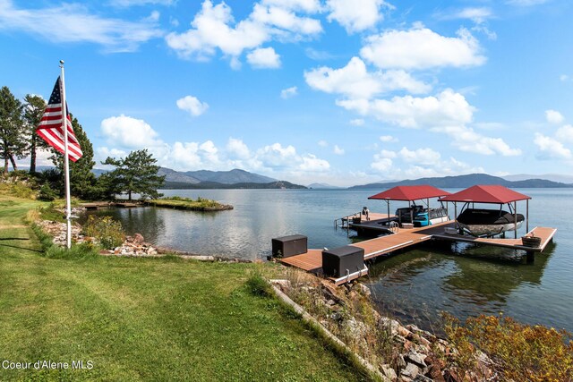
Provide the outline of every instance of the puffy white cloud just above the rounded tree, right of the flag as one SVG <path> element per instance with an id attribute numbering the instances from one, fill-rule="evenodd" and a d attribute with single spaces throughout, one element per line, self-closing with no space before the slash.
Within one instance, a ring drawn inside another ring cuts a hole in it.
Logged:
<path id="1" fill-rule="evenodd" d="M 112 116 L 101 121 L 101 132 L 110 144 L 124 148 L 144 149 L 163 144 L 158 133 L 141 119 L 126 115 Z"/>

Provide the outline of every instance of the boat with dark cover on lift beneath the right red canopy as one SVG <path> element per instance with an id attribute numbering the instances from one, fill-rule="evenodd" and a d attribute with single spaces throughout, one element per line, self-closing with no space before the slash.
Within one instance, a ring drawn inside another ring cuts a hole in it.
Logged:
<path id="1" fill-rule="evenodd" d="M 458 216 L 458 225 L 474 236 L 492 236 L 514 231 L 524 220 L 523 215 L 512 214 L 503 209 L 466 208 Z"/>

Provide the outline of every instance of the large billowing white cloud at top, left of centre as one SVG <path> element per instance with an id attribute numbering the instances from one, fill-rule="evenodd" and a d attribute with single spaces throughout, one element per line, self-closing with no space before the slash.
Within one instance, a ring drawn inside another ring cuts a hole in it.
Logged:
<path id="1" fill-rule="evenodd" d="M 304 2 L 271 3 L 282 5 L 255 4 L 246 19 L 235 22 L 227 4 L 213 5 L 210 0 L 205 0 L 191 23 L 192 28 L 183 33 L 169 33 L 167 45 L 181 57 L 199 60 L 208 60 L 220 50 L 237 68 L 238 57 L 244 50 L 256 49 L 274 38 L 284 42 L 321 33 L 320 21 L 300 17 L 292 11 L 295 4 L 306 6 Z"/>

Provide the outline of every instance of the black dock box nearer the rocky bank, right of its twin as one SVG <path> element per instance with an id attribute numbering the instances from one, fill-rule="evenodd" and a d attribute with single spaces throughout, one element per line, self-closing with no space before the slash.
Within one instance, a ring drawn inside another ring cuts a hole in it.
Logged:
<path id="1" fill-rule="evenodd" d="M 322 271 L 326 276 L 346 276 L 346 269 L 353 274 L 364 268 L 364 250 L 346 245 L 334 250 L 322 251 Z"/>

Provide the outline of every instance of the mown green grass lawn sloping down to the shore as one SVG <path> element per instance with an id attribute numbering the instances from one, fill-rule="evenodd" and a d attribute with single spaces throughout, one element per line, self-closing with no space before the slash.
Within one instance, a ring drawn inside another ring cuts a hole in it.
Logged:
<path id="1" fill-rule="evenodd" d="M 181 259 L 47 259 L 0 195 L 0 362 L 91 361 L 0 380 L 363 379 L 245 281 L 256 267 Z M 84 363 L 87 366 L 87 363 Z"/>

